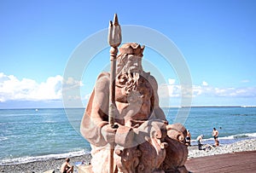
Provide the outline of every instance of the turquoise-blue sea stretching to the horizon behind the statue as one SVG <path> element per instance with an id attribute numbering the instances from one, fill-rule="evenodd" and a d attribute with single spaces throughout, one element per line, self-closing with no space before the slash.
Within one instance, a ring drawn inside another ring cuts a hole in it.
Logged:
<path id="1" fill-rule="evenodd" d="M 213 144 L 212 128 L 220 145 L 256 138 L 256 107 L 162 108 L 169 124 L 181 123 L 195 139 Z M 84 108 L 0 109 L 0 165 L 61 159 L 90 153 L 79 133 Z"/>

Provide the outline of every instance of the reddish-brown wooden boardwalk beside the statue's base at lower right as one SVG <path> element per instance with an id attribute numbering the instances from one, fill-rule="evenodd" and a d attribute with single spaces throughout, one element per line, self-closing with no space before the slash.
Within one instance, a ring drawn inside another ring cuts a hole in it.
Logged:
<path id="1" fill-rule="evenodd" d="M 256 151 L 189 159 L 185 166 L 192 173 L 256 172 Z"/>

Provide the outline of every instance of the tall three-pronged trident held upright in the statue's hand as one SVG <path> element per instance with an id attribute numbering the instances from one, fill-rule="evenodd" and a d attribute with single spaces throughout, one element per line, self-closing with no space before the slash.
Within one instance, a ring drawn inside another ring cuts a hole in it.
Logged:
<path id="1" fill-rule="evenodd" d="M 113 16 L 113 23 L 109 21 L 108 27 L 108 43 L 111 46 L 110 49 L 110 84 L 109 84 L 109 110 L 108 110 L 108 123 L 114 128 L 114 113 L 115 113 L 115 71 L 116 71 L 116 55 L 118 53 L 118 47 L 122 41 L 121 27 L 119 26 L 119 20 L 117 14 Z M 111 143 L 109 154 L 109 173 L 113 173 L 113 147 L 114 143 Z"/>

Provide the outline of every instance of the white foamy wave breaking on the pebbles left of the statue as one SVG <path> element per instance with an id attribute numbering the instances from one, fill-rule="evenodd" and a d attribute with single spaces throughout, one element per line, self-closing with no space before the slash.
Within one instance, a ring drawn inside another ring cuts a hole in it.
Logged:
<path id="1" fill-rule="evenodd" d="M 36 162 L 36 161 L 44 161 L 48 159 L 63 159 L 63 158 L 71 158 L 75 156 L 81 156 L 84 154 L 87 154 L 85 150 L 80 150 L 77 152 L 70 152 L 70 153 L 59 153 L 59 154 L 48 154 L 44 156 L 26 156 L 21 158 L 15 158 L 15 159 L 3 159 L 0 160 L 0 165 L 11 165 L 11 164 L 26 164 L 30 162 Z"/>

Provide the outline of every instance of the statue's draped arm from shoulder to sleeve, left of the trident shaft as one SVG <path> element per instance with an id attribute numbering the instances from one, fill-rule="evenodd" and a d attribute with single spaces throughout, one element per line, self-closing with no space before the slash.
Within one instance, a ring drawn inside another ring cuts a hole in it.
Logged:
<path id="1" fill-rule="evenodd" d="M 91 144 L 104 146 L 102 127 L 108 124 L 109 75 L 102 73 L 96 80 L 95 88 L 84 112 L 80 132 Z"/>

